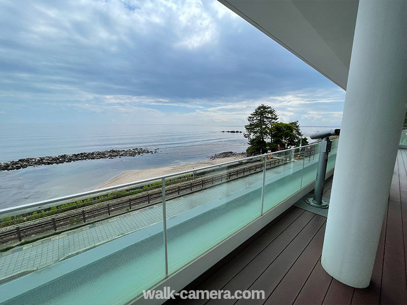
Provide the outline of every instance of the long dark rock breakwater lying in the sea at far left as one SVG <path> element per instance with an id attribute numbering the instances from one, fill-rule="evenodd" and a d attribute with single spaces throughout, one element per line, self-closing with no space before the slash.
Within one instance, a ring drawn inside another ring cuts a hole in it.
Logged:
<path id="1" fill-rule="evenodd" d="M 105 151 L 92 151 L 92 153 L 79 153 L 72 155 L 60 155 L 53 157 L 39 157 L 39 158 L 24 158 L 18 161 L 9 161 L 0 163 L 0 170 L 14 170 L 26 168 L 28 166 L 50 165 L 69 163 L 80 160 L 95 160 L 95 159 L 113 159 L 117 157 L 135 157 L 143 154 L 155 154 L 159 148 L 153 151 L 147 148 L 130 148 L 130 149 L 111 149 Z"/>

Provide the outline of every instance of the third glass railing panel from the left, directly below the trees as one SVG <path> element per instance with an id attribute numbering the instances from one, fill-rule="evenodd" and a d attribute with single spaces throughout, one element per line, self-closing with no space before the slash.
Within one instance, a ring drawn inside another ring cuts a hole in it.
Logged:
<path id="1" fill-rule="evenodd" d="M 298 155 L 298 149 L 288 149 L 268 156 L 264 211 L 300 190 L 303 160 Z"/>

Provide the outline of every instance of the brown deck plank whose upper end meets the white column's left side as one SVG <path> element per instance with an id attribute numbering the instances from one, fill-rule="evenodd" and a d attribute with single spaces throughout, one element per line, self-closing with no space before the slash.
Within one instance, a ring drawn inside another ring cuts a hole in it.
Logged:
<path id="1" fill-rule="evenodd" d="M 325 225 L 312 238 L 265 304 L 292 304 L 321 256 Z"/>

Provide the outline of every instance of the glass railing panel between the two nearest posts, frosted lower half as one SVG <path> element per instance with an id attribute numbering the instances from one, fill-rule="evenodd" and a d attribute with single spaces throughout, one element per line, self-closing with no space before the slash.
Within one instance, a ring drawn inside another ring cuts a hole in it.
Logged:
<path id="1" fill-rule="evenodd" d="M 166 180 L 169 273 L 260 216 L 263 168 L 254 157 L 193 171 L 181 190 Z"/>

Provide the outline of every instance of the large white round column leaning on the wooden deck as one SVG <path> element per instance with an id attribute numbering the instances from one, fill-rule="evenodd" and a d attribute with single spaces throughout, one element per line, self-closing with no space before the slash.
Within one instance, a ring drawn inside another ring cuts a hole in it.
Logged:
<path id="1" fill-rule="evenodd" d="M 322 266 L 370 283 L 407 102 L 407 1 L 360 0 Z"/>

